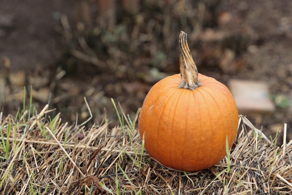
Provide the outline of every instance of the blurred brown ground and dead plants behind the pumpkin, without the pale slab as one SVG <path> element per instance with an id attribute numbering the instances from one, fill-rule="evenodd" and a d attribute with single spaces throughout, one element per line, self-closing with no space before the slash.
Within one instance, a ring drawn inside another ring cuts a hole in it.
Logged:
<path id="1" fill-rule="evenodd" d="M 274 107 L 239 113 L 272 137 L 285 122 L 292 139 L 291 7 L 289 0 L 3 0 L 2 111 L 23 108 L 26 86 L 27 108 L 32 87 L 36 109 L 49 101 L 51 115 L 69 124 L 76 113 L 79 124 L 89 117 L 84 96 L 88 125 L 105 117 L 119 124 L 111 98 L 133 119 L 153 84 L 179 73 L 183 30 L 199 73 L 227 86 L 264 83 Z"/>

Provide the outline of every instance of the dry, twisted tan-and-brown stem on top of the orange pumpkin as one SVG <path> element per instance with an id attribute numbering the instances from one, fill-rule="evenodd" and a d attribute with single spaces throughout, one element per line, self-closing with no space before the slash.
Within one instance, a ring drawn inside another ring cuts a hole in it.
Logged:
<path id="1" fill-rule="evenodd" d="M 187 45 L 187 34 L 180 31 L 180 85 L 178 88 L 194 90 L 202 84 L 198 78 L 198 69 Z"/>

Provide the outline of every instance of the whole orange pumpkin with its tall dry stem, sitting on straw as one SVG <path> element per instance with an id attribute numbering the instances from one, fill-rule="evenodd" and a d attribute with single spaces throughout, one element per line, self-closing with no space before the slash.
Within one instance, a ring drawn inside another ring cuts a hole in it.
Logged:
<path id="1" fill-rule="evenodd" d="M 166 167 L 199 171 L 226 156 L 237 134 L 238 110 L 228 88 L 201 75 L 180 32 L 180 74 L 165 77 L 148 92 L 138 119 L 149 155 Z"/>

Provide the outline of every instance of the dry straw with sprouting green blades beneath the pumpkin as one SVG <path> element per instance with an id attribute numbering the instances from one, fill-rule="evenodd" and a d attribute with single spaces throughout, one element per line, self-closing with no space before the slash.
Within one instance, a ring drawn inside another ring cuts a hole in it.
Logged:
<path id="1" fill-rule="evenodd" d="M 32 118 L 28 111 L 17 118 L 0 114 L 1 194 L 292 193 L 292 141 L 278 146 L 243 116 L 230 171 L 225 157 L 210 169 L 186 173 L 141 151 L 138 130 L 131 128 L 137 117 L 133 125 L 123 114 L 127 125 L 108 129 L 105 120 L 86 129 L 62 124 L 60 115 L 45 119 L 46 109 Z"/>

